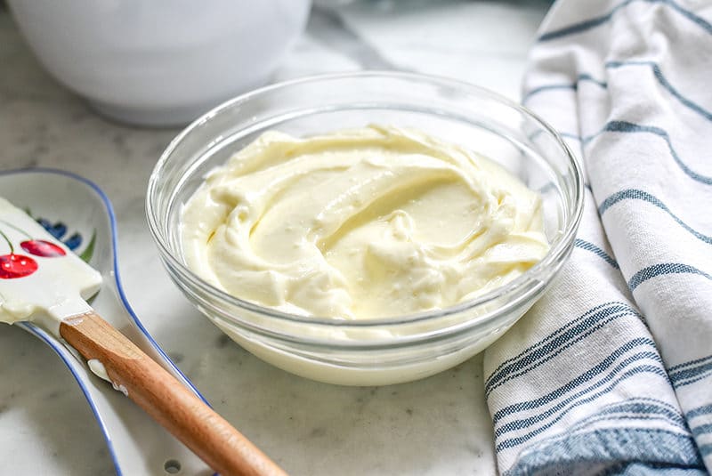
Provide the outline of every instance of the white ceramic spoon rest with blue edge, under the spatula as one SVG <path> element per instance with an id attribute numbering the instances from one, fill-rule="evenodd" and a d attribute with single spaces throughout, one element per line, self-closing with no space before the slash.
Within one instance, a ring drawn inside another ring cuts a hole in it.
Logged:
<path id="1" fill-rule="evenodd" d="M 116 218 L 104 192 L 84 177 L 46 168 L 0 172 L 0 190 L 45 228 L 51 227 L 55 237 L 71 240 L 65 244 L 75 246 L 75 253 L 101 272 L 101 291 L 92 301 L 101 317 L 204 399 L 149 335 L 125 298 L 118 272 Z M 74 375 L 104 434 L 117 474 L 169 474 L 169 468 L 173 472 L 180 468 L 182 474 L 213 473 L 134 402 L 93 375 L 71 348 L 32 323 L 17 325 L 48 344 Z"/>

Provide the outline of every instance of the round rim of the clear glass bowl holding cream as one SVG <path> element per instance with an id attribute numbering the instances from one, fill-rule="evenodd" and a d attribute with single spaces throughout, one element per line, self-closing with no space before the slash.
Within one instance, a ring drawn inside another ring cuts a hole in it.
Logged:
<path id="1" fill-rule="evenodd" d="M 287 89 L 295 85 L 304 85 L 308 83 L 319 83 L 323 81 L 335 81 L 340 79 L 358 79 L 358 78 L 390 78 L 390 79 L 401 79 L 405 81 L 417 82 L 417 83 L 427 83 L 430 85 L 441 85 L 449 86 L 455 88 L 458 91 L 477 93 L 480 95 L 485 95 L 490 97 L 499 103 L 516 110 L 525 117 L 529 117 L 534 120 L 535 123 L 542 126 L 543 129 L 548 133 L 551 138 L 554 139 L 556 144 L 562 149 L 564 155 L 569 159 L 569 165 L 571 167 L 573 175 L 573 200 L 571 207 L 570 220 L 564 223 L 564 229 L 557 237 L 557 241 L 554 246 L 551 246 L 547 251 L 544 258 L 534 264 L 529 270 L 526 270 L 522 275 L 514 278 L 503 286 L 498 286 L 495 289 L 490 290 L 485 294 L 481 294 L 474 299 L 457 303 L 452 306 L 445 308 L 434 309 L 429 311 L 420 311 L 411 314 L 404 314 L 393 316 L 389 318 L 378 318 L 378 319 L 335 319 L 321 316 L 304 316 L 299 314 L 293 314 L 285 311 L 277 311 L 269 307 L 264 307 L 262 305 L 251 303 L 249 301 L 240 299 L 232 294 L 229 294 L 222 289 L 208 283 L 203 278 L 198 277 L 188 266 L 186 266 L 181 260 L 177 259 L 170 246 L 167 244 L 167 240 L 164 237 L 164 233 L 161 230 L 161 225 L 158 217 L 155 213 L 155 208 L 152 205 L 152 198 L 157 195 L 157 183 L 160 173 L 166 169 L 166 163 L 168 163 L 170 157 L 174 153 L 174 150 L 182 143 L 182 141 L 193 133 L 198 127 L 206 124 L 211 118 L 222 113 L 226 109 L 231 109 L 235 105 L 241 102 L 249 101 L 255 96 L 261 96 L 263 94 L 271 93 L 272 91 Z M 158 162 L 154 166 L 152 172 L 150 173 L 150 178 L 148 182 L 148 190 L 145 199 L 145 213 L 147 221 L 149 224 L 150 233 L 154 239 L 154 242 L 158 246 L 159 254 L 164 261 L 166 267 L 173 267 L 180 271 L 183 278 L 188 278 L 193 286 L 198 286 L 207 294 L 212 294 L 214 297 L 218 297 L 221 301 L 230 303 L 233 306 L 245 309 L 247 311 L 253 311 L 263 316 L 267 316 L 275 319 L 284 319 L 293 324 L 307 324 L 310 326 L 323 326 L 323 327 L 381 327 L 388 326 L 394 327 L 399 325 L 409 325 L 414 324 L 424 320 L 431 319 L 441 319 L 453 314 L 457 314 L 469 309 L 476 308 L 481 304 L 493 302 L 505 294 L 526 294 L 527 290 L 531 285 L 544 286 L 546 283 L 554 277 L 557 270 L 561 267 L 563 260 L 566 255 L 570 253 L 573 246 L 574 238 L 578 230 L 578 226 L 581 222 L 583 216 L 584 208 L 584 174 L 583 167 L 580 164 L 578 157 L 573 154 L 569 146 L 563 141 L 562 136 L 556 132 L 553 126 L 549 125 L 546 120 L 539 117 L 538 114 L 534 113 L 530 109 L 524 107 L 509 98 L 506 98 L 500 93 L 491 91 L 488 88 L 482 87 L 480 85 L 473 85 L 462 80 L 452 79 L 449 77 L 441 77 L 422 73 L 409 73 L 400 71 L 387 71 L 387 70 L 360 70 L 352 71 L 346 73 L 327 73 L 311 75 L 306 77 L 298 77 L 295 79 L 281 81 L 274 83 L 272 85 L 265 85 L 263 87 L 257 88 L 247 93 L 240 94 L 230 100 L 224 101 L 223 103 L 210 109 L 202 116 L 195 119 L 190 125 L 186 126 L 181 133 L 178 133 L 172 141 L 166 146 L 166 149 L 161 153 L 158 158 Z M 544 275 L 545 279 L 543 281 L 538 280 L 540 276 Z M 180 287 L 180 285 L 179 285 Z M 510 299 L 504 306 L 499 306 L 496 310 L 488 312 L 486 315 L 478 316 L 474 319 L 478 325 L 484 325 L 491 319 L 495 319 L 498 315 L 507 311 L 509 307 L 518 303 L 519 299 Z M 242 325 L 244 322 L 240 319 L 230 316 L 236 324 Z"/>

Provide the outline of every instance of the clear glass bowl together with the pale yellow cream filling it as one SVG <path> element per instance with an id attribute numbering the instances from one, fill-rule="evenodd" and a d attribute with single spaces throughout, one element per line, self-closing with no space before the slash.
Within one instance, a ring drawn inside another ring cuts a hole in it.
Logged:
<path id="1" fill-rule="evenodd" d="M 240 346 L 314 380 L 378 385 L 505 333 L 570 254 L 582 203 L 577 160 L 528 110 L 457 81 L 360 72 L 198 118 L 158 160 L 146 212 L 176 286 Z"/>

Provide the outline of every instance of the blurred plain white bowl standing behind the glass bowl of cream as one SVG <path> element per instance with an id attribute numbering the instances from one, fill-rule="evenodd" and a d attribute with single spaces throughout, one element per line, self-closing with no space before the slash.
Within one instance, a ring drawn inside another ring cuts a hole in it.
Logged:
<path id="1" fill-rule="evenodd" d="M 265 83 L 311 0 L 9 0 L 53 77 L 103 114 L 187 124 Z"/>

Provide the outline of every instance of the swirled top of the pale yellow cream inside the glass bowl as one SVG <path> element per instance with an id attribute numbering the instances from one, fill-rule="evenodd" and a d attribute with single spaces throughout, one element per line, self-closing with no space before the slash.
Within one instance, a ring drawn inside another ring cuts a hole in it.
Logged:
<path id="1" fill-rule="evenodd" d="M 182 210 L 191 270 L 241 299 L 373 319 L 502 286 L 548 250 L 541 199 L 490 159 L 368 126 L 263 133 Z"/>

